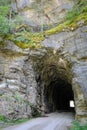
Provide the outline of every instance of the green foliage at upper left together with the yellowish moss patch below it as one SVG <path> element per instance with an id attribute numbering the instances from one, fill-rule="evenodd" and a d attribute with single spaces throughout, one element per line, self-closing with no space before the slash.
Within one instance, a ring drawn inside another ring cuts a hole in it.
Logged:
<path id="1" fill-rule="evenodd" d="M 10 5 L 11 0 L 0 0 L 0 36 L 3 39 L 13 41 L 17 46 L 23 49 L 40 47 L 40 42 L 44 40 L 44 35 L 42 33 L 32 33 L 25 30 L 18 31 L 21 25 L 20 23 L 16 24 L 14 22 L 11 16 Z"/>

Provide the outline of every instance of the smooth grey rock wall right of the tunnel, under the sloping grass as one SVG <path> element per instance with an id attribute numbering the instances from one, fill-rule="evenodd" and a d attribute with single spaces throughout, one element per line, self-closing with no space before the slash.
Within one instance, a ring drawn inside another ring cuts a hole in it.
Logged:
<path id="1" fill-rule="evenodd" d="M 60 48 L 71 63 L 76 118 L 87 122 L 87 26 L 52 35 L 43 44 L 54 48 L 54 53 Z"/>

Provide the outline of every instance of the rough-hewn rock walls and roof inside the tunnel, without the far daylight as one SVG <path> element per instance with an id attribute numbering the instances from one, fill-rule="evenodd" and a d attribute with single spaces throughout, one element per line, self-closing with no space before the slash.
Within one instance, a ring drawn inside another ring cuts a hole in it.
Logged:
<path id="1" fill-rule="evenodd" d="M 32 57 L 38 84 L 38 107 L 45 113 L 56 110 L 71 110 L 68 101 L 74 99 L 71 86 L 72 74 L 70 65 L 64 59 L 63 55 L 61 55 L 61 50 L 57 50 L 54 53 L 53 49 L 48 48 L 44 52 L 44 56 L 41 56 L 41 53 L 39 53 L 38 57 L 35 57 L 35 55 Z M 65 97 L 68 95 L 69 100 L 65 100 L 64 95 Z"/>

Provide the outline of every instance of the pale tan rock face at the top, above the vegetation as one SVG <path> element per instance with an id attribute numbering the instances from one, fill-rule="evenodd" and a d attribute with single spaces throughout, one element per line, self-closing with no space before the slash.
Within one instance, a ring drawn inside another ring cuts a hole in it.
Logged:
<path id="1" fill-rule="evenodd" d="M 12 4 L 13 11 L 31 26 L 59 23 L 72 7 L 73 0 L 16 0 Z"/>

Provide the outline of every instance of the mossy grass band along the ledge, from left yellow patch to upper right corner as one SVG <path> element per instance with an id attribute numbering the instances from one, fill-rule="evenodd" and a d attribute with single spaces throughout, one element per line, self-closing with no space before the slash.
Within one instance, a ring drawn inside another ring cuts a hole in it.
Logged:
<path id="1" fill-rule="evenodd" d="M 5 13 L 6 12 L 4 12 L 4 14 Z M 81 20 L 83 20 L 82 25 L 79 24 L 79 21 Z M 41 47 L 41 41 L 45 39 L 44 35 L 49 36 L 62 31 L 73 31 L 79 26 L 83 25 L 87 25 L 87 0 L 77 0 L 77 3 L 73 9 L 71 11 L 68 11 L 64 18 L 64 21 L 58 26 L 51 28 L 43 33 L 31 33 L 29 31 L 16 32 L 14 34 L 6 36 L 5 39 L 13 41 L 18 47 L 22 49 L 39 48 Z M 19 26 L 18 29 L 20 27 L 21 26 Z"/>

